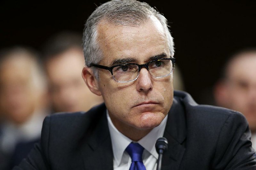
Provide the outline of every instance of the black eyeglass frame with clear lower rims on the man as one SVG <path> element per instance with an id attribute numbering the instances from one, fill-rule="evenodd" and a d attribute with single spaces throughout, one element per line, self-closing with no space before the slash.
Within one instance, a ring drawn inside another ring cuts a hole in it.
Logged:
<path id="1" fill-rule="evenodd" d="M 165 76 L 168 76 L 168 75 L 172 74 L 172 71 L 173 71 L 173 68 L 174 68 L 174 64 L 175 64 L 176 58 L 161 58 L 161 59 L 156 59 L 156 60 L 149 61 L 148 63 L 145 63 L 145 64 L 124 63 L 124 64 L 118 64 L 118 65 L 111 66 L 111 67 L 102 66 L 102 65 L 98 65 L 98 64 L 91 64 L 89 67 L 94 66 L 94 67 L 97 67 L 97 68 L 102 68 L 102 69 L 108 70 L 108 71 L 110 71 L 110 73 L 111 73 L 113 79 L 114 79 L 116 82 L 125 83 L 125 82 L 135 81 L 135 80 L 139 77 L 139 75 L 140 75 L 140 70 L 141 70 L 141 68 L 144 67 L 144 68 L 146 68 L 146 69 L 148 70 L 148 65 L 149 65 L 150 63 L 153 63 L 153 62 L 156 62 L 156 61 L 161 61 L 161 60 L 171 60 L 171 61 L 172 61 L 172 70 L 171 70 L 171 73 L 169 73 L 169 74 L 167 74 L 167 75 L 164 75 L 164 76 L 161 76 L 161 77 L 165 77 Z M 136 65 L 136 66 L 139 67 L 137 77 L 136 77 L 135 79 L 129 80 L 129 81 L 117 81 L 117 80 L 114 78 L 114 76 L 113 76 L 113 68 L 118 67 L 118 66 L 125 66 L 125 65 L 127 65 L 127 64 L 133 64 L 133 65 Z M 149 72 L 149 70 L 148 70 L 148 72 Z M 150 73 L 150 72 L 149 72 L 149 73 Z M 151 73 L 150 73 L 150 75 L 151 75 Z M 152 76 L 152 75 L 151 75 L 151 76 Z M 152 77 L 155 77 L 155 76 L 152 76 Z M 156 78 L 161 78 L 161 77 L 156 77 Z"/>

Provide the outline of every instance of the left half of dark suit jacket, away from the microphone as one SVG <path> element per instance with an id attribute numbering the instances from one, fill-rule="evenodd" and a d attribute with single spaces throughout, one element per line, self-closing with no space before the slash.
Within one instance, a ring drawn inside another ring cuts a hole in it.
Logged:
<path id="1" fill-rule="evenodd" d="M 17 169 L 113 169 L 106 107 L 57 113 L 43 123 L 41 142 Z"/>

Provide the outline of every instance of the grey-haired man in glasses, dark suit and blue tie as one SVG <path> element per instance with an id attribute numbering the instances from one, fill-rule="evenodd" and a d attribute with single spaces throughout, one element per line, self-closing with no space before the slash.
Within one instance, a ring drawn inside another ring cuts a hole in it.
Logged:
<path id="1" fill-rule="evenodd" d="M 85 24 L 83 78 L 105 104 L 47 117 L 41 143 L 16 169 L 156 169 L 162 136 L 162 169 L 255 169 L 240 113 L 173 97 L 173 55 L 166 19 L 148 4 L 99 6 Z"/>

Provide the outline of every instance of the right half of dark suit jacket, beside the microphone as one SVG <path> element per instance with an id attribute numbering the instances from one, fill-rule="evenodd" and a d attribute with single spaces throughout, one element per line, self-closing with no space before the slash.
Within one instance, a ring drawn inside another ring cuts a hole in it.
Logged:
<path id="1" fill-rule="evenodd" d="M 176 158 L 177 169 L 256 169 L 244 116 L 196 104 L 188 93 L 174 92 L 164 135 L 172 142 L 166 157 Z"/>

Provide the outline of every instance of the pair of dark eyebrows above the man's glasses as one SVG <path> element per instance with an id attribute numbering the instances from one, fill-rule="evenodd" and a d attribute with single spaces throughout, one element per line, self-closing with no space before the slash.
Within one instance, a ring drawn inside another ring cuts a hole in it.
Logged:
<path id="1" fill-rule="evenodd" d="M 165 58 L 165 57 L 167 57 L 167 54 L 166 53 L 162 53 L 162 54 L 159 54 L 159 55 L 155 55 L 155 56 L 149 57 L 148 61 L 157 60 L 157 59 L 161 59 L 161 58 Z M 133 63 L 137 63 L 138 59 L 136 59 L 136 58 L 117 58 L 117 59 L 114 59 L 111 62 L 110 66 L 115 66 L 115 65 L 118 65 L 118 64 L 132 63 L 132 62 Z"/>

